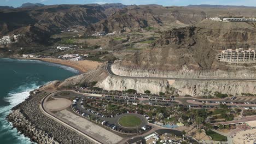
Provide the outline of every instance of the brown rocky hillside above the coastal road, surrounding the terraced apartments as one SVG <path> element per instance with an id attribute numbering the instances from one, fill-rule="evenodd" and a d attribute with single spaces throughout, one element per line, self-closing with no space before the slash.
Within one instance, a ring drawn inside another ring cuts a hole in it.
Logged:
<path id="1" fill-rule="evenodd" d="M 254 48 L 255 23 L 202 21 L 174 28 L 152 49 L 127 56 L 113 65 L 114 73 L 153 77 L 255 78 L 255 65 L 227 65 L 217 60 L 221 50 Z"/>

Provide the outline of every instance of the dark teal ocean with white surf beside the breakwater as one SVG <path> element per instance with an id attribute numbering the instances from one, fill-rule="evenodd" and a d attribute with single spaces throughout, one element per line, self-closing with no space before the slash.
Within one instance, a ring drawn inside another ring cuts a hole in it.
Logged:
<path id="1" fill-rule="evenodd" d="M 24 101 L 29 92 L 54 80 L 65 80 L 78 70 L 36 60 L 0 58 L 0 143 L 32 143 L 5 120 L 12 107 Z"/>

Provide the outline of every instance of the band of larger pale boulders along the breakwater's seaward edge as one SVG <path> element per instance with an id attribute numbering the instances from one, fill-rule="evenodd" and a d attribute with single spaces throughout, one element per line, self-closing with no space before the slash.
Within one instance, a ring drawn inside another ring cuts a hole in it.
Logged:
<path id="1" fill-rule="evenodd" d="M 26 119 L 20 110 L 14 110 L 8 116 L 8 122 L 12 122 L 13 127 L 21 131 L 25 136 L 31 137 L 31 140 L 37 143 L 59 143 L 54 141 L 53 137 L 43 130 L 38 130 L 34 124 Z"/>

